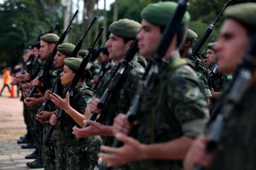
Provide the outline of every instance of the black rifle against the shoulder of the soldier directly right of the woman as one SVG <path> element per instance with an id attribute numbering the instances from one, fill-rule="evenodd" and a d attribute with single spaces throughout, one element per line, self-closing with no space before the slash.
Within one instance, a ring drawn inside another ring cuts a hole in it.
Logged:
<path id="1" fill-rule="evenodd" d="M 117 66 L 117 70 L 115 74 L 110 78 L 111 81 L 108 84 L 107 88 L 105 89 L 104 93 L 100 98 L 100 102 L 97 105 L 98 109 L 102 109 L 103 106 L 107 103 L 107 101 L 112 96 L 113 91 L 115 90 L 117 83 L 119 82 L 120 78 L 122 77 L 125 69 L 129 65 L 129 62 L 134 58 L 134 55 L 138 52 L 139 48 L 137 47 L 138 40 L 134 40 L 129 50 L 126 52 L 124 60 L 122 60 L 119 65 Z M 89 120 L 96 120 L 98 113 L 91 113 Z M 83 128 L 88 127 L 88 124 L 85 124 Z"/>

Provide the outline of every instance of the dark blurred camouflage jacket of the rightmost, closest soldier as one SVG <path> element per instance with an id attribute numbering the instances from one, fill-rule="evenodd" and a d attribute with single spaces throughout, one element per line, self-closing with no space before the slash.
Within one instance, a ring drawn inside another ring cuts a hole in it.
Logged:
<path id="1" fill-rule="evenodd" d="M 222 150 L 217 152 L 209 169 L 256 169 L 256 82 L 247 89 L 235 106 L 224 128 Z"/>

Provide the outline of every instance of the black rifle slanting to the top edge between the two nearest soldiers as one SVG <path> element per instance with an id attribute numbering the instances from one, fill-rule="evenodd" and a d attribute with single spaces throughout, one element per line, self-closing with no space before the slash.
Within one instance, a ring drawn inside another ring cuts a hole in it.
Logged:
<path id="1" fill-rule="evenodd" d="M 231 3 L 231 0 L 228 0 L 226 2 L 226 4 L 224 5 L 223 9 L 221 10 L 221 12 L 218 14 L 217 18 L 215 18 L 215 20 L 208 26 L 207 30 L 204 32 L 204 34 L 200 38 L 199 42 L 195 46 L 194 51 L 192 52 L 192 56 L 195 56 L 199 53 L 199 50 L 201 50 L 202 45 L 204 45 L 207 38 L 209 38 L 209 36 L 211 35 L 212 30 L 215 28 L 216 22 L 219 20 L 219 18 L 223 14 L 224 10 L 228 7 L 228 5 L 230 5 L 230 3 Z"/>

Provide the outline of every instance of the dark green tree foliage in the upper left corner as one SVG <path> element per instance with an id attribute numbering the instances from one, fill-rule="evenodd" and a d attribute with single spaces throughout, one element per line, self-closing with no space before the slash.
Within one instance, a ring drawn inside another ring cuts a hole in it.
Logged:
<path id="1" fill-rule="evenodd" d="M 36 42 L 40 30 L 46 33 L 54 25 L 52 18 L 45 20 L 45 9 L 37 1 L 4 1 L 0 5 L 0 65 L 21 62 L 23 50 Z"/>

